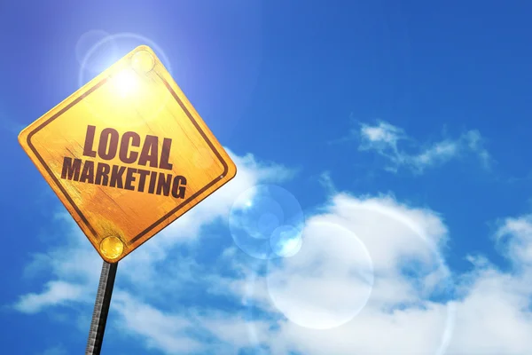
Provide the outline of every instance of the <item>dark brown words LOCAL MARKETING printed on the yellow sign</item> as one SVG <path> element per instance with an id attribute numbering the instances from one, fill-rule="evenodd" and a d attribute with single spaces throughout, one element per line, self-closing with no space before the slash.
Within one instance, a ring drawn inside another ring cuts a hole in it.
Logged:
<path id="1" fill-rule="evenodd" d="M 117 155 L 124 164 L 149 166 L 160 170 L 172 170 L 168 162 L 172 139 L 163 138 L 159 153 L 159 138 L 146 135 L 141 146 L 141 138 L 136 132 L 128 131 L 121 135 L 113 128 L 100 132 L 98 146 L 94 144 L 96 126 L 88 126 L 83 145 L 83 155 L 89 158 L 100 158 L 110 161 Z M 140 148 L 136 150 L 133 148 Z M 153 170 L 136 169 L 121 165 L 110 165 L 106 162 L 95 163 L 86 159 L 64 157 L 61 178 L 87 184 L 121 188 L 139 193 L 170 194 L 176 199 L 183 199 L 186 178 L 180 175 Z"/>

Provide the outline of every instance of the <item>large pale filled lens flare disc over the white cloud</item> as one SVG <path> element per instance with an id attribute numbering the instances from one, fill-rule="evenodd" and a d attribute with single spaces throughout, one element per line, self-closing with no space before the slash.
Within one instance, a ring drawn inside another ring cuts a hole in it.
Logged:
<path id="1" fill-rule="evenodd" d="M 301 327 L 340 327 L 372 294 L 372 258 L 356 234 L 340 225 L 310 222 L 303 234 L 297 255 L 270 261 L 271 300 Z"/>

